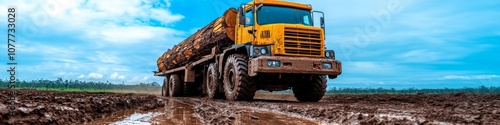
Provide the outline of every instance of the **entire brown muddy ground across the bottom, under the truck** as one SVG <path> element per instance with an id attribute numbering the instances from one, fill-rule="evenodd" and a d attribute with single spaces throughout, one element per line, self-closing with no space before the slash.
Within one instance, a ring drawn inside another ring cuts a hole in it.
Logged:
<path id="1" fill-rule="evenodd" d="M 498 124 L 500 94 L 327 95 L 297 102 L 257 93 L 251 102 L 200 97 L 19 90 L 9 116 L 0 89 L 0 124 Z M 49 95 L 49 96 L 48 96 Z"/>

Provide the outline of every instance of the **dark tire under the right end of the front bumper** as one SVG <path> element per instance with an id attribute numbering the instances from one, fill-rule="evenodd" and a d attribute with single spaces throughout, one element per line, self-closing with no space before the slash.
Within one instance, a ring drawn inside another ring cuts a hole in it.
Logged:
<path id="1" fill-rule="evenodd" d="M 323 98 L 326 92 L 326 78 L 324 76 L 313 76 L 312 80 L 303 80 L 292 88 L 295 98 L 301 102 L 317 102 Z"/>

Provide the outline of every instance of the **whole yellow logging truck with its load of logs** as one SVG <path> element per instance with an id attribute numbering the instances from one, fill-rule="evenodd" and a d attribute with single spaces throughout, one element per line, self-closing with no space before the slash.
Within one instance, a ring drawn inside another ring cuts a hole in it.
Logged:
<path id="1" fill-rule="evenodd" d="M 325 45 L 324 14 L 308 4 L 255 0 L 167 50 L 155 76 L 162 95 L 252 100 L 257 90 L 292 89 L 297 100 L 317 102 L 327 78 L 342 73 Z"/>

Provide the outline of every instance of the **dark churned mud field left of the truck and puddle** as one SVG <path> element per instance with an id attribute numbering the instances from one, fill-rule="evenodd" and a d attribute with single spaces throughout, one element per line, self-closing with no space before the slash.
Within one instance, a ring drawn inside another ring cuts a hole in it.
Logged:
<path id="1" fill-rule="evenodd" d="M 10 90 L 0 89 L 0 124 L 68 124 L 105 118 L 127 109 L 164 107 L 155 95 L 16 90 L 16 114 L 8 109 Z"/>

